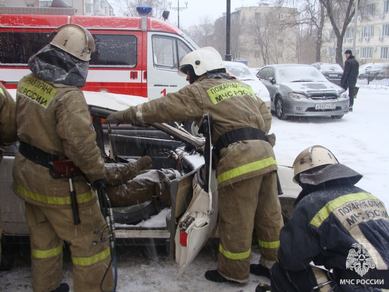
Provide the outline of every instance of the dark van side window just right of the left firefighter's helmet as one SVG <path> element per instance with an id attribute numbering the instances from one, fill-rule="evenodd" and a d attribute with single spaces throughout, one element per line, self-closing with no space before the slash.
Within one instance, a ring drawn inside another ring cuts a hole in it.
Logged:
<path id="1" fill-rule="evenodd" d="M 90 55 L 90 67 L 136 66 L 138 38 L 135 35 L 92 34 L 92 36 L 96 49 Z"/>

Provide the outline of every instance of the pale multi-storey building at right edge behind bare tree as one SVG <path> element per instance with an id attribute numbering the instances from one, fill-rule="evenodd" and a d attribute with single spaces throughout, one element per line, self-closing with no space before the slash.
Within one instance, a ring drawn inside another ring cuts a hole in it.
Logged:
<path id="1" fill-rule="evenodd" d="M 335 63 L 336 37 L 330 23 L 326 23 L 323 36 L 327 39 L 321 48 L 321 61 Z M 353 51 L 360 65 L 389 62 L 389 0 L 370 0 L 358 9 L 358 16 L 353 18 L 343 38 L 343 57 L 346 50 Z"/>

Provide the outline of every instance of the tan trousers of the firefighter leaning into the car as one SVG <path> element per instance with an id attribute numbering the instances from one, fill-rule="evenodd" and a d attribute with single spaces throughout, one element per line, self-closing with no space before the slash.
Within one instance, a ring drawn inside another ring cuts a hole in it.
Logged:
<path id="1" fill-rule="evenodd" d="M 247 282 L 254 227 L 261 258 L 276 260 L 283 227 L 276 172 L 220 187 L 218 207 L 218 272 L 227 279 Z"/>

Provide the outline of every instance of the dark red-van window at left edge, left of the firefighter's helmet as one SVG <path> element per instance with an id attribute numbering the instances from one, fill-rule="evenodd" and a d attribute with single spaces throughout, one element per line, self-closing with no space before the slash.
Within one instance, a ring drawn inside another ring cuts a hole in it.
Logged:
<path id="1" fill-rule="evenodd" d="M 49 33 L 1 32 L 0 63 L 25 65 L 28 59 L 50 43 Z"/>

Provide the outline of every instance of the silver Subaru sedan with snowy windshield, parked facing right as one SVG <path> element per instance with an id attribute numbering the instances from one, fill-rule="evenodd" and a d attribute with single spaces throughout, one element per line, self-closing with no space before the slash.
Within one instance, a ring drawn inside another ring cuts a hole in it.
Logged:
<path id="1" fill-rule="evenodd" d="M 331 116 L 349 112 L 349 97 L 311 65 L 268 65 L 257 73 L 270 93 L 271 110 L 287 116 Z"/>

